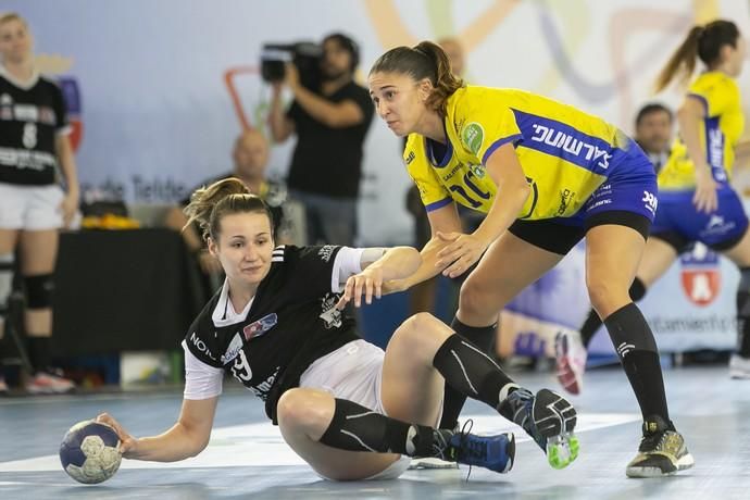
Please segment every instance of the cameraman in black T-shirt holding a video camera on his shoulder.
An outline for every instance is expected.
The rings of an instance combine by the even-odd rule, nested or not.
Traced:
[[[374,114],[367,89],[353,82],[358,63],[357,43],[332,34],[323,40],[317,88],[302,86],[293,64],[273,84],[271,132],[277,142],[297,134],[287,184],[304,204],[309,245],[354,243],[362,145]],[[286,113],[283,85],[295,96]]]

